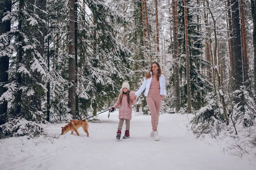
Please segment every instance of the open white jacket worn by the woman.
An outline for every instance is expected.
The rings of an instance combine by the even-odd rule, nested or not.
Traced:
[[[149,87],[150,87],[150,84],[152,81],[152,72],[150,72],[150,74],[151,74],[150,78],[146,79],[144,77],[144,81],[143,81],[142,85],[140,86],[140,89],[138,89],[138,91],[135,93],[135,95],[139,96],[143,92],[143,90],[146,89],[144,96],[146,96],[146,97],[148,96]],[[160,95],[166,96],[165,77],[163,74],[160,75],[159,82],[160,82]]]

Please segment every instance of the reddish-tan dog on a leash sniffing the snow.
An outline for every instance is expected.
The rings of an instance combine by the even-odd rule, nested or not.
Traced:
[[[82,120],[84,120],[85,118],[83,118]],[[88,133],[88,122],[87,120],[81,121],[81,120],[73,120],[70,121],[67,125],[65,125],[64,127],[61,127],[61,135],[64,135],[65,133],[68,133],[68,131],[71,131],[71,134],[74,133],[74,131],[76,132],[76,134],[79,136],[78,133],[78,129],[79,127],[82,127],[84,132],[87,133],[87,137],[89,137],[89,133]]]

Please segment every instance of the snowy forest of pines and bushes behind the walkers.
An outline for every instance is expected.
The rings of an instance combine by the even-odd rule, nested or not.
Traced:
[[[256,147],[256,0],[0,0],[0,138],[109,109],[153,61],[161,114]],[[150,114],[143,95],[134,110]]]

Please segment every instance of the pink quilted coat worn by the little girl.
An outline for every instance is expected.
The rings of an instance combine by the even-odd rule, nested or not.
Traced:
[[[113,108],[116,109],[116,107],[118,107],[120,105],[120,95],[117,98],[116,103],[112,106]],[[125,118],[125,119],[131,119],[131,104],[135,105],[137,103],[137,99],[133,100],[131,99],[132,96],[135,95],[135,92],[130,92],[130,105],[128,105],[127,102],[127,96],[125,94],[123,94],[122,96],[122,104],[119,107],[119,119],[120,118]]]

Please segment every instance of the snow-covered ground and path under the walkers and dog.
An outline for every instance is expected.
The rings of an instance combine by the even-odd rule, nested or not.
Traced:
[[[48,136],[0,141],[0,170],[255,170],[256,156],[224,152],[214,139],[201,141],[188,128],[192,115],[160,115],[160,141],[149,136],[149,115],[133,113],[131,138],[116,140],[118,112],[89,122],[89,138],[61,133],[65,124],[44,125]],[[124,134],[125,124],[122,130]]]

